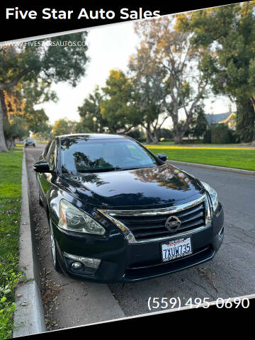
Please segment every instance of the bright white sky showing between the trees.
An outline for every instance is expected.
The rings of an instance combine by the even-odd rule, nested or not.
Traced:
[[[73,88],[71,85],[53,84],[52,90],[57,93],[57,103],[44,103],[50,123],[60,118],[79,121],[77,108],[84,99],[94,91],[95,86],[104,86],[111,69],[127,70],[130,55],[135,53],[139,38],[134,31],[132,21],[114,23],[106,26],[89,28],[87,36],[88,55],[86,74]],[[229,100],[226,97],[209,98],[205,101],[205,113],[224,113],[229,111]],[[234,107],[232,106],[234,109]],[[171,128],[171,118],[166,120],[164,128]]]

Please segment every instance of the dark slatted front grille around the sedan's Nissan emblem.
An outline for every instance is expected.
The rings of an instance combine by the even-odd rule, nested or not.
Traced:
[[[166,212],[164,215],[115,215],[115,219],[122,222],[134,235],[137,242],[169,237],[175,233],[169,232],[165,227],[166,219],[176,216],[181,220],[181,226],[176,233],[191,230],[205,225],[205,201],[179,212]]]

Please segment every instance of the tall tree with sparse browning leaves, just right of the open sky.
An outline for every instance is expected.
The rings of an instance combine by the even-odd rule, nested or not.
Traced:
[[[139,81],[140,97],[147,103],[150,98],[145,106],[147,124],[157,131],[159,117],[161,122],[171,117],[174,140],[180,143],[196,106],[205,98],[208,74],[200,63],[207,50],[195,46],[190,33],[177,31],[175,23],[176,16],[138,22],[136,32],[142,40],[130,68]]]

